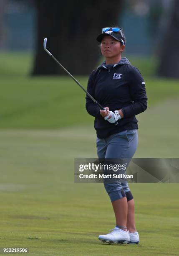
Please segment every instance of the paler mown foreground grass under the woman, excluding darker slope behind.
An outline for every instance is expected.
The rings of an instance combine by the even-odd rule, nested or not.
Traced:
[[[177,102],[141,114],[135,157],[178,157]],[[172,127],[165,123],[164,106],[176,117]],[[160,113],[153,117],[155,136],[153,111]],[[49,256],[178,255],[178,184],[130,184],[141,242],[98,241],[115,225],[108,195],[103,184],[73,182],[74,158],[96,157],[92,123],[56,131],[1,130],[0,148],[0,247],[28,247],[30,255]]]

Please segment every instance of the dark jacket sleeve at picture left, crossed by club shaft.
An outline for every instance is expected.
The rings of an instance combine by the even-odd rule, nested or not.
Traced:
[[[88,86],[87,86],[87,92],[94,97],[94,81],[93,81],[93,72],[90,74],[90,77],[88,79]],[[93,100],[90,99],[88,95],[86,95],[86,110],[88,114],[94,116],[94,117],[101,117],[100,115],[100,108],[98,105],[96,105]]]

